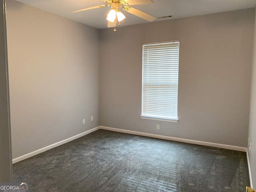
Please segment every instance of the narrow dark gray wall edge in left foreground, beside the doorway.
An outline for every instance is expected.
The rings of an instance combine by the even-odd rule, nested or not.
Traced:
[[[0,6],[0,182],[12,182],[10,104],[6,47],[6,4]]]

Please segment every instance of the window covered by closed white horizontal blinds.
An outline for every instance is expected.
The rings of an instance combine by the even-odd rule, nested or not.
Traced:
[[[143,44],[142,119],[178,122],[179,41]]]

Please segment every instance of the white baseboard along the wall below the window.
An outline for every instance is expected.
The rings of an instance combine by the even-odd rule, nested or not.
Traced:
[[[158,138],[158,139],[164,139],[164,140],[170,140],[170,141],[178,141],[178,142],[184,142],[184,143],[190,143],[190,144],[197,144],[197,145],[204,145],[204,146],[217,147],[217,148],[223,148],[223,149],[230,149],[230,150],[236,150],[236,151],[242,151],[242,152],[246,152],[246,150],[247,150],[247,148],[245,148],[245,147],[218,144],[218,143],[211,143],[211,142],[204,142],[204,141],[197,141],[197,140],[190,140],[190,139],[182,139],[182,138],[156,135],[156,134],[137,132],[137,131],[131,131],[131,130],[124,130],[124,129],[117,129],[117,128],[111,128],[111,127],[105,127],[105,126],[100,126],[100,129],[110,130],[110,131],[115,131],[115,132],[121,132],[121,133],[128,133],[128,134],[133,134],[133,135],[152,137],[152,138]]]

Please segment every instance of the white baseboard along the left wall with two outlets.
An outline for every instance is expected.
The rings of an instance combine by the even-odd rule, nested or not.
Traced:
[[[70,138],[64,139],[64,140],[62,140],[62,141],[60,141],[60,142],[51,144],[51,145],[46,146],[46,147],[44,147],[44,148],[35,150],[35,151],[30,152],[30,153],[28,153],[28,154],[22,155],[22,156],[20,156],[20,157],[17,157],[17,158],[15,158],[15,159],[12,160],[12,164],[17,163],[17,162],[19,162],[19,161],[22,161],[22,160],[24,160],[24,159],[30,158],[30,157],[32,157],[32,156],[35,156],[35,155],[37,155],[37,154],[40,154],[40,153],[45,152],[45,151],[47,151],[47,150],[50,150],[50,149],[52,149],[52,148],[58,147],[58,146],[60,146],[60,145],[62,145],[62,144],[65,144],[65,143],[67,143],[67,142],[70,142],[70,141],[72,141],[72,140],[75,140],[75,139],[77,139],[77,138],[80,138],[80,137],[82,137],[82,136],[85,136],[85,135],[87,135],[87,134],[89,134],[89,133],[92,133],[92,132],[94,132],[94,131],[96,131],[96,130],[99,130],[99,129],[100,129],[100,126],[98,126],[98,127],[96,127],[96,128],[92,128],[92,129],[90,129],[90,130],[88,130],[88,131],[85,131],[85,132],[82,132],[82,133],[77,134],[77,135],[75,135],[75,136],[72,136],[72,137],[70,137]]]

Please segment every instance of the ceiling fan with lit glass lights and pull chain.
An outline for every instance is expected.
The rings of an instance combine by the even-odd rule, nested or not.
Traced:
[[[147,14],[138,9],[130,7],[130,5],[153,4],[154,2],[152,0],[102,0],[102,1],[104,1],[106,4],[74,10],[74,11],[71,11],[70,13],[76,13],[76,12],[86,11],[90,9],[111,6],[111,10],[109,11],[107,16],[108,27],[116,27],[117,20],[118,22],[120,22],[125,18],[124,14],[122,14],[122,12],[120,12],[119,10],[120,7],[123,8],[124,11],[134,14],[135,16],[138,16],[149,22],[154,21],[156,19],[154,16],[150,14]],[[116,28],[114,28],[114,31],[116,31]]]

